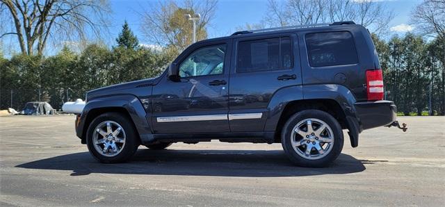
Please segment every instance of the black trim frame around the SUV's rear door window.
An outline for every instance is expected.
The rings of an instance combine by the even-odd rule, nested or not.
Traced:
[[[280,53],[280,59],[282,58],[282,56],[281,56],[281,53],[282,53],[282,51],[281,51],[281,39],[282,38],[289,38],[289,40],[291,41],[291,67],[289,67],[289,68],[284,68],[284,67],[282,67],[282,68],[280,68],[280,69],[274,69],[274,70],[261,70],[261,71],[253,71],[253,72],[238,72],[238,48],[239,48],[239,43],[240,42],[249,42],[249,41],[256,41],[256,40],[267,40],[267,39],[275,39],[275,38],[278,38],[279,39],[279,45],[280,45],[280,47],[279,47],[279,53]],[[249,73],[259,73],[259,72],[277,72],[277,71],[286,71],[286,70],[292,70],[293,69],[293,67],[295,67],[295,58],[294,58],[294,49],[293,49],[293,45],[294,44],[294,40],[293,40],[293,37],[292,37],[292,35],[291,34],[286,34],[286,35],[282,35],[282,34],[280,34],[280,35],[269,35],[269,36],[263,36],[263,37],[254,37],[254,38],[248,38],[248,39],[245,39],[245,40],[243,40],[243,39],[238,39],[237,41],[236,41],[236,47],[235,47],[235,73],[236,74],[249,74]]]

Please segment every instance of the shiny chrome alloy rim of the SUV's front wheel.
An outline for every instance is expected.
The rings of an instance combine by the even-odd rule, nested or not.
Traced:
[[[97,124],[92,134],[92,142],[99,154],[113,157],[120,154],[125,145],[125,131],[120,124],[105,121]]]

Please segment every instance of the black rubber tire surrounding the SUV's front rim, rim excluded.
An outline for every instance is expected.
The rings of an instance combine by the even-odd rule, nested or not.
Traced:
[[[118,123],[124,131],[126,138],[125,144],[115,156],[104,156],[100,154],[93,145],[92,137],[96,127],[106,121],[112,121]],[[90,154],[101,163],[124,163],[131,159],[133,154],[138,150],[139,140],[131,119],[121,113],[104,113],[96,117],[88,126],[86,137],[86,144]]]

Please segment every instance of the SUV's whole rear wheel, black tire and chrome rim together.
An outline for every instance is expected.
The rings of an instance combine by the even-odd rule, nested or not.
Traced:
[[[309,124],[312,131],[307,130]],[[329,113],[302,110],[292,115],[284,124],[281,142],[286,155],[295,165],[326,167],[343,149],[343,131],[337,119]]]

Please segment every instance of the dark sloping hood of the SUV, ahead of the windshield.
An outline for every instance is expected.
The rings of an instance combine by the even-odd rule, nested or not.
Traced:
[[[117,93],[131,93],[129,90],[138,87],[146,87],[150,85],[155,85],[156,78],[147,78],[139,81],[131,81],[127,83],[119,83],[115,85],[109,85],[103,88],[97,88],[95,90],[90,90],[86,93],[86,101],[90,101],[95,99],[96,97],[107,96],[109,94],[117,94]]]

